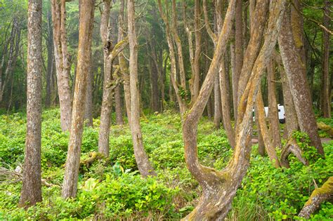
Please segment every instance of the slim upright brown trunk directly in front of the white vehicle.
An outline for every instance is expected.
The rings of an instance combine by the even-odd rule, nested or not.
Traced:
[[[270,60],[267,67],[267,81],[268,81],[268,119],[269,119],[269,133],[272,138],[272,145],[274,148],[281,148],[281,135],[280,135],[280,121],[278,114],[278,102],[275,96],[275,67],[273,61]]]

